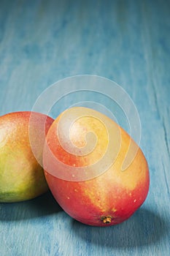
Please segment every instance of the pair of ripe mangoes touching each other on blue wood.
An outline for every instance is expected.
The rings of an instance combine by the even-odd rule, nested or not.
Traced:
[[[144,203],[147,161],[114,121],[88,108],[70,108],[55,121],[36,113],[31,124],[30,115],[0,118],[0,201],[30,199],[45,192],[48,184],[71,217],[97,226],[123,222]],[[123,170],[128,150],[131,161]],[[39,165],[42,158],[47,184]]]

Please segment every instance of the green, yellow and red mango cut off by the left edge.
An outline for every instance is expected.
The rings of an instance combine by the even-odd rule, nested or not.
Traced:
[[[47,192],[44,171],[31,151],[29,140],[30,111],[8,113],[0,117],[0,202],[29,200]],[[47,117],[46,133],[53,118],[34,113],[31,123],[35,141]],[[39,155],[42,148],[39,147]]]

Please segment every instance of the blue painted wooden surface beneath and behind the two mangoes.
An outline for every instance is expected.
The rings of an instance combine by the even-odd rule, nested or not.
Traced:
[[[0,1],[1,115],[31,110],[61,78],[110,78],[139,111],[150,167],[144,205],[113,227],[74,221],[50,193],[1,203],[0,255],[170,255],[169,13],[165,0]]]

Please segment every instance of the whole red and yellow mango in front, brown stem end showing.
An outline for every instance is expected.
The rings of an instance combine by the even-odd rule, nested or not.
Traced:
[[[47,132],[43,165],[55,200],[86,225],[125,221],[149,191],[142,150],[115,121],[90,108],[69,108],[55,119]]]

